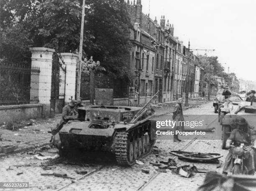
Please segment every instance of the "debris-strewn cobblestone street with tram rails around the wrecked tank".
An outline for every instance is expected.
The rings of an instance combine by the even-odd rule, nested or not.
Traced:
[[[214,140],[213,136],[219,135],[221,131],[218,123],[218,115],[214,114],[212,103],[204,103],[199,107],[190,108],[184,111],[184,118],[192,114],[197,115],[214,115],[211,122],[207,124],[207,128],[215,127],[215,133],[206,133],[205,137],[191,136],[177,143],[167,138],[159,137],[153,151],[141,159],[143,164],[135,164],[130,168],[117,166],[115,164],[89,164],[81,166],[79,164],[60,163],[52,166],[50,170],[43,170],[40,163],[41,160],[31,158],[32,155],[27,153],[16,153],[13,155],[4,156],[0,159],[0,180],[2,182],[29,182],[30,190],[195,190],[202,184],[205,173],[197,173],[191,178],[185,178],[172,171],[167,170],[166,173],[156,170],[157,167],[152,166],[150,162],[168,161],[166,156],[172,150],[196,151],[201,153],[220,153],[223,157],[220,158],[221,167],[217,168],[218,164],[205,163],[189,163],[180,161],[177,158],[178,166],[194,164],[197,168],[205,168],[209,171],[222,171],[225,156],[228,151],[220,148],[220,140]],[[154,118],[157,121],[165,121],[172,117],[172,114],[165,114]],[[182,136],[180,136],[182,139]],[[219,138],[220,139],[220,138]],[[48,155],[55,155],[56,150],[50,149]],[[51,153],[50,153],[51,152]],[[157,153],[157,155],[156,155]],[[44,153],[47,154],[47,153]],[[20,167],[15,167],[20,165]],[[25,166],[22,166],[25,165]],[[27,165],[27,166],[26,166]],[[11,167],[13,170],[6,170]],[[148,169],[149,173],[143,173],[141,169]],[[85,175],[77,174],[75,171],[87,171]],[[17,173],[22,174],[17,175]],[[41,173],[66,173],[67,176],[74,179],[41,176]],[[10,189],[9,189],[10,190]]]

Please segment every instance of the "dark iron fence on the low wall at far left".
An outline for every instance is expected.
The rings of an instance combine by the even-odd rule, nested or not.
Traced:
[[[0,63],[0,105],[38,103],[39,68]]]

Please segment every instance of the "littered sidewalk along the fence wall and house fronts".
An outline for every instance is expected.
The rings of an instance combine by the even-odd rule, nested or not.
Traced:
[[[202,103],[207,102],[206,98],[189,98],[189,107],[184,107],[184,110],[199,107]],[[152,107],[156,111],[154,118],[172,113],[176,103],[176,101],[172,101],[152,104]],[[4,146],[15,146],[14,151],[10,153],[19,153],[48,145],[51,139],[51,133],[48,133],[48,131],[51,131],[51,128],[55,128],[60,119],[61,114],[58,114],[55,118],[21,121],[22,124],[18,126],[17,124],[14,124],[14,126],[10,126],[10,124],[0,126],[0,156],[6,155],[1,151],[1,147]],[[15,130],[9,130],[13,128]]]

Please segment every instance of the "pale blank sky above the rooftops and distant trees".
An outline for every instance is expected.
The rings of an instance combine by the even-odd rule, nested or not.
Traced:
[[[150,2],[150,3],[149,3]],[[142,11],[174,25],[174,36],[195,54],[218,56],[225,72],[256,80],[256,0],[141,0]],[[150,5],[150,6],[149,6]],[[150,10],[150,11],[149,11]],[[225,64],[226,63],[226,64]]]

